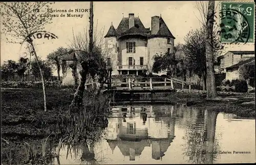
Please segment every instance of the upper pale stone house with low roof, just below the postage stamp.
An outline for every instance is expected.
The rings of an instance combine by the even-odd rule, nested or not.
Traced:
[[[218,73],[225,73],[226,68],[238,64],[240,61],[255,57],[254,51],[228,51],[218,57]]]

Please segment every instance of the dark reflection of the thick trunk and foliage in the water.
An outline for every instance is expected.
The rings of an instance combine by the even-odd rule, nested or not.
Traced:
[[[187,108],[189,111],[191,107]],[[183,137],[186,143],[183,154],[189,158],[189,163],[213,163],[220,156],[220,146],[215,139],[218,112],[207,110],[199,112],[196,119],[193,117],[186,119],[187,129]]]

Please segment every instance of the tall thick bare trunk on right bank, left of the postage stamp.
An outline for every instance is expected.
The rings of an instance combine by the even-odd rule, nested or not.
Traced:
[[[215,87],[215,75],[214,75],[214,50],[213,50],[213,26],[214,26],[214,5],[215,1],[209,1],[208,3],[208,14],[207,14],[207,24],[206,24],[206,89],[207,98],[212,99],[217,97],[217,91]]]

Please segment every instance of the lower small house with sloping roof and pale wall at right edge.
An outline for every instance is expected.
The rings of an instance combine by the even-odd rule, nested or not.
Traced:
[[[241,79],[241,75],[239,73],[239,69],[241,68],[241,66],[248,66],[248,65],[252,65],[252,66],[255,66],[255,57],[252,57],[250,59],[247,59],[247,60],[244,60],[244,61],[241,61],[237,64],[234,64],[230,67],[227,67],[226,68],[226,79],[228,80],[232,80],[232,79]],[[251,78],[250,79],[254,79],[255,76],[254,76],[255,72],[251,72]]]

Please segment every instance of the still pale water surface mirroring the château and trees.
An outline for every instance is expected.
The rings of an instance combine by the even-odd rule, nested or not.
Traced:
[[[59,163],[256,161],[255,120],[178,104],[114,106],[112,111],[100,142],[91,146],[80,144],[69,151],[68,146],[64,146],[60,150]],[[88,153],[93,158],[84,158]]]

